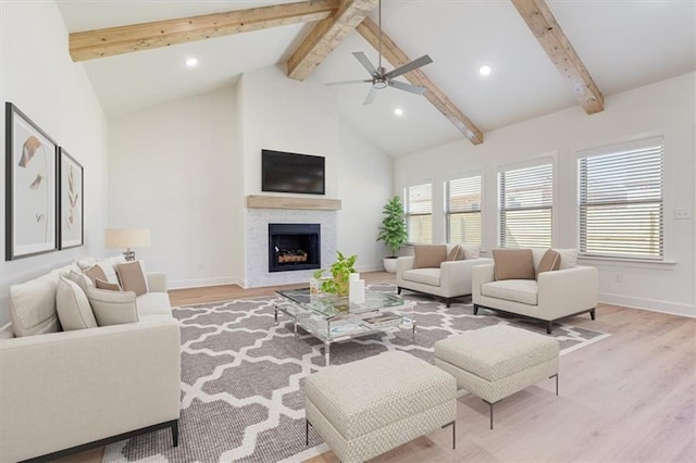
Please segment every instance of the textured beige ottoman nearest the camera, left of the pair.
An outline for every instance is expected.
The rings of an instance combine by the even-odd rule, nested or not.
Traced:
[[[309,425],[341,462],[361,462],[452,425],[457,383],[405,352],[332,365],[304,381]],[[309,437],[307,437],[309,445]]]

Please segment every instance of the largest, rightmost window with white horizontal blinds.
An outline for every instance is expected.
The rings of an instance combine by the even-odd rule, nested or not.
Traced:
[[[662,145],[579,159],[581,254],[662,260]]]

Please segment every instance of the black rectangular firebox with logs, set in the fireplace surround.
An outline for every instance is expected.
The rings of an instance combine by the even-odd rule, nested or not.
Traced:
[[[320,224],[269,224],[269,272],[321,267]]]

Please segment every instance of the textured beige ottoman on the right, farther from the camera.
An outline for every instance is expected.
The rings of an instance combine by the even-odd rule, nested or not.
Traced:
[[[506,397],[552,377],[558,396],[559,351],[556,339],[495,325],[435,342],[435,365],[488,403],[493,429],[493,405]]]

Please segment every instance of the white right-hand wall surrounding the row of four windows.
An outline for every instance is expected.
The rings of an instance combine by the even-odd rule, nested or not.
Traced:
[[[425,150],[395,161],[396,191],[423,178],[434,180],[434,223],[444,221],[442,183],[457,172],[484,172],[484,247],[497,242],[497,179],[499,165],[552,155],[555,159],[554,246],[577,246],[577,151],[662,135],[664,137],[666,260],[644,264],[581,260],[596,265],[600,300],[626,306],[696,315],[694,286],[694,78],[687,74],[606,100],[601,113],[587,115],[580,107],[486,134],[483,145],[465,140]],[[686,208],[689,220],[674,220]],[[444,240],[436,227],[435,242]],[[623,281],[616,281],[616,274]]]

